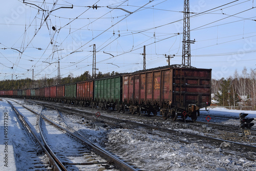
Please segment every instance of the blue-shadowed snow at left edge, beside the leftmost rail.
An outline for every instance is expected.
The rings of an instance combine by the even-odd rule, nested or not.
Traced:
[[[4,134],[4,116],[8,114],[8,133]],[[6,127],[5,127],[6,128]],[[0,170],[32,170],[33,160],[45,160],[44,155],[30,154],[38,148],[32,144],[17,121],[7,101],[0,98]],[[7,137],[5,137],[7,136]],[[8,142],[8,146],[5,145]],[[5,156],[8,158],[5,159]],[[31,160],[31,157],[34,159]],[[35,165],[34,165],[35,166]]]

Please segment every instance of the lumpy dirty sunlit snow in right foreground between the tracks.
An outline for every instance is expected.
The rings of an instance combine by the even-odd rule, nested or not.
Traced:
[[[255,170],[256,162],[226,156],[220,148],[183,144],[136,130],[112,130],[106,146],[144,170]]]

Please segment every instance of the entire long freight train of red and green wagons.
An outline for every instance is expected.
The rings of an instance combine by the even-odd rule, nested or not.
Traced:
[[[211,69],[166,66],[113,77],[82,81],[39,89],[0,91],[2,96],[36,97],[100,109],[129,110],[164,119],[200,115],[199,109],[210,105]],[[10,95],[9,95],[10,94]]]

